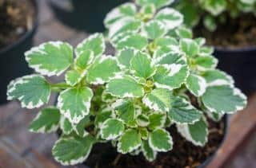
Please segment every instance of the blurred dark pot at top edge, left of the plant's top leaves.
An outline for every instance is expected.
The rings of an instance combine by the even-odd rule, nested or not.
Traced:
[[[87,33],[103,32],[103,20],[115,6],[127,0],[50,0],[56,18]]]

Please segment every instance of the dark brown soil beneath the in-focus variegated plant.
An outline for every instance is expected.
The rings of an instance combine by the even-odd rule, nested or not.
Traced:
[[[94,146],[85,164],[90,168],[194,168],[218,150],[224,137],[224,120],[220,123],[209,120],[208,123],[209,137],[205,147],[196,147],[186,141],[178,134],[176,127],[172,126],[168,131],[174,141],[173,150],[167,153],[158,153],[158,158],[154,162],[147,162],[142,154],[138,156],[125,154],[121,155],[118,163],[114,166],[113,162],[118,156],[116,149],[110,143],[99,143]]]

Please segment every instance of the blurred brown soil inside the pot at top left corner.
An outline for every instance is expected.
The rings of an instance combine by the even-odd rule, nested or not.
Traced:
[[[34,15],[30,0],[0,0],[0,49],[14,44],[32,29]]]

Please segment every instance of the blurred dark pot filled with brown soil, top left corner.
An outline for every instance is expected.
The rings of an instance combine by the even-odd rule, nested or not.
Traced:
[[[10,80],[31,72],[23,53],[31,48],[38,25],[37,2],[0,0],[0,20],[0,104],[3,104]]]

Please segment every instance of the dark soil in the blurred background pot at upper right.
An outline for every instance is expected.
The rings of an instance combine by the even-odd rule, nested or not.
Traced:
[[[220,48],[256,47],[256,17],[253,14],[243,14],[239,18],[227,18],[226,24],[218,25],[214,32],[199,24],[194,33],[196,37],[206,37],[209,45]]]

